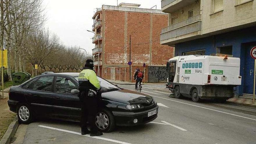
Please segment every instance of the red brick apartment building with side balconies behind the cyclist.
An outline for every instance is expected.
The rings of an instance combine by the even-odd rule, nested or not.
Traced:
[[[173,57],[174,48],[160,45],[160,32],[162,27],[168,26],[168,15],[161,10],[139,6],[127,3],[103,5],[94,14],[93,57],[99,76],[130,81],[130,71],[132,76],[137,68],[144,71],[145,63],[145,82],[166,81],[167,74],[161,70]],[[130,50],[131,69],[127,64]]]

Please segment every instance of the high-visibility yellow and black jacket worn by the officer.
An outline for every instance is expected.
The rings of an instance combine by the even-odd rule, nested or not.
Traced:
[[[95,71],[90,69],[82,70],[78,77],[79,90],[99,90],[100,84]]]

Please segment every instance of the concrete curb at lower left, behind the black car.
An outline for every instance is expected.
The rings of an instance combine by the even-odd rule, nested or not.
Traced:
[[[0,144],[10,144],[11,138],[13,138],[17,128],[19,126],[18,117],[16,116],[13,122],[9,125],[6,130],[3,138],[0,141]]]

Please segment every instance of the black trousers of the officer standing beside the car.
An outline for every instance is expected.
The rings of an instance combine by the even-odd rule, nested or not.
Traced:
[[[97,98],[83,97],[81,106],[81,131],[87,131],[88,127],[90,127],[90,133],[96,133],[98,131],[95,125],[97,112]]]

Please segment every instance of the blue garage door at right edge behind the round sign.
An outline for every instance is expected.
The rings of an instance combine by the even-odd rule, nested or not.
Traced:
[[[255,45],[249,45],[246,47],[245,52],[245,64],[244,64],[244,84],[243,93],[253,94],[253,75],[254,75],[254,59],[250,56],[250,50],[255,47]]]

